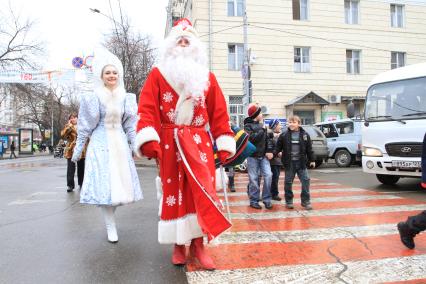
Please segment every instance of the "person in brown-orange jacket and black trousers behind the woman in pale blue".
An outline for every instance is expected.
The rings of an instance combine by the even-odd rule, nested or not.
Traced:
[[[75,143],[77,141],[77,121],[78,116],[76,113],[71,113],[68,116],[68,123],[65,125],[64,129],[61,131],[62,139],[67,141],[67,144],[64,149],[64,157],[67,159],[67,192],[72,192],[75,187],[74,176],[76,170],[76,163],[71,161]],[[59,140],[58,146],[61,146],[63,140]],[[59,147],[58,147],[59,148]],[[85,163],[85,153],[86,147],[84,147],[81,154],[80,160],[77,162],[77,181],[78,189],[81,190],[84,179],[84,163]]]

